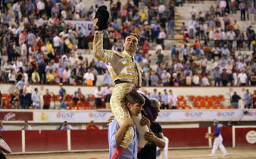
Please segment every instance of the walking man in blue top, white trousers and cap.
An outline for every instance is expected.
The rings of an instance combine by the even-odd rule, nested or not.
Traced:
[[[226,149],[225,149],[224,145],[222,144],[223,139],[221,136],[221,131],[218,126],[218,121],[215,119],[213,120],[213,126],[215,126],[215,128],[214,128],[214,134],[212,135],[212,137],[215,137],[215,139],[214,139],[211,155],[209,155],[209,156],[213,157],[215,155],[215,152],[217,151],[217,149],[220,148],[220,150],[223,153],[222,157],[224,157],[224,156],[228,155],[228,153],[226,152]]]

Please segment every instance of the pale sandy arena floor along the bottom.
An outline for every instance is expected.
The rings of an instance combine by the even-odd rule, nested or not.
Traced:
[[[211,149],[169,150],[168,159],[256,159],[256,147],[226,148],[228,156],[222,157],[218,149],[215,157],[209,157]],[[108,152],[51,153],[36,155],[7,155],[7,159],[108,159]],[[162,152],[163,159],[163,152]]]

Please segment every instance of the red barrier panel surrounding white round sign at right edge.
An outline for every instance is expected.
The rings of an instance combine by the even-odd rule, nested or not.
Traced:
[[[256,143],[250,144],[250,143],[248,143],[248,141],[246,141],[246,134],[251,130],[256,131],[256,128],[236,128],[235,129],[236,147],[238,147],[238,146],[256,146]]]

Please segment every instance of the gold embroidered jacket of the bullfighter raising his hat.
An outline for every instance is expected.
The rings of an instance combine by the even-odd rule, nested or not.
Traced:
[[[103,33],[94,34],[93,55],[96,59],[105,62],[113,81],[129,81],[141,87],[141,66],[125,52],[103,49]]]

